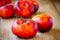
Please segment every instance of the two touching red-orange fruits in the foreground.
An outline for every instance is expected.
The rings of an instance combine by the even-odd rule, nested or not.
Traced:
[[[34,37],[38,30],[47,32],[52,28],[52,18],[47,14],[35,15],[31,20],[17,19],[12,24],[12,32],[20,38]]]

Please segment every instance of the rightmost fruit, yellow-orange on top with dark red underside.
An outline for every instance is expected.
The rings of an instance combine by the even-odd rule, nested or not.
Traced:
[[[36,15],[32,18],[38,25],[40,32],[49,31],[52,28],[52,18],[46,14]]]

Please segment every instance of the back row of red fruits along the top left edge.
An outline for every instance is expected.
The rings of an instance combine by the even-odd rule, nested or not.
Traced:
[[[39,5],[35,0],[17,0],[14,5],[10,0],[0,0],[0,17],[9,18],[16,14],[16,16],[28,18],[38,8]]]

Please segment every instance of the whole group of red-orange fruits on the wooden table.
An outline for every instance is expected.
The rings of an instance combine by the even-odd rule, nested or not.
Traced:
[[[52,17],[47,14],[35,15],[39,4],[36,0],[17,0],[13,5],[10,0],[0,0],[0,17],[9,18],[13,15],[22,17],[12,24],[12,33],[20,38],[32,38],[37,32],[47,32],[52,28]]]

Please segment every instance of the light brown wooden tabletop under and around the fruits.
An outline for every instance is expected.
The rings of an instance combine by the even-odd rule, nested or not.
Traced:
[[[52,2],[49,0],[38,0],[38,13],[46,13],[53,18],[53,28],[46,33],[37,33],[34,38],[21,39],[11,32],[11,25],[16,18],[0,18],[0,40],[60,40],[60,14],[57,12]]]

